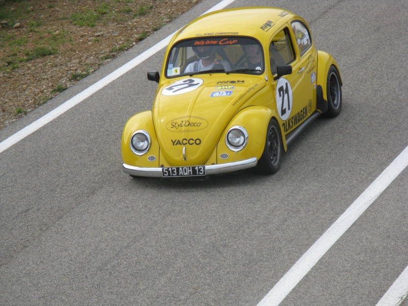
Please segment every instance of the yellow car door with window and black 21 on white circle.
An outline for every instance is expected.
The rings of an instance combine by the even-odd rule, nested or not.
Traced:
[[[277,76],[277,66],[292,66],[292,73],[274,80],[276,83],[273,86],[276,109],[282,120],[284,134],[299,126],[312,110],[312,90],[304,73],[308,63],[295,51],[293,35],[286,25],[275,33],[269,44],[270,68],[274,79]]]

